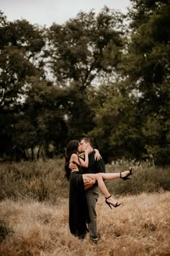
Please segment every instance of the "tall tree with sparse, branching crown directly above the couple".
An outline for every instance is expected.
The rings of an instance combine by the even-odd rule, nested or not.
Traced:
[[[107,7],[99,14],[80,12],[65,24],[50,27],[49,64],[56,85],[68,89],[69,137],[79,138],[94,127],[87,91],[107,74],[115,77],[123,37],[122,14]]]

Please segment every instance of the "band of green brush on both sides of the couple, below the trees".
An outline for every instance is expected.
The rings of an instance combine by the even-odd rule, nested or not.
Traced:
[[[133,166],[131,180],[106,181],[113,195],[139,194],[140,192],[159,192],[170,190],[169,166],[156,167],[150,162],[120,160],[106,165],[107,172],[120,172]],[[68,181],[65,178],[64,160],[46,162],[1,163],[0,200],[37,200],[57,204],[68,197]]]

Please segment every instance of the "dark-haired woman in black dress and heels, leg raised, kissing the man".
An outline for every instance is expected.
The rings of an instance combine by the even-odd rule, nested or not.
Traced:
[[[91,148],[84,150],[84,159],[79,156],[79,141],[71,140],[66,148],[66,177],[69,180],[69,227],[71,234],[84,238],[86,232],[86,223],[89,223],[89,212],[86,204],[85,190],[89,189],[98,183],[98,187],[105,197],[105,202],[110,208],[117,207],[120,203],[116,202],[107,190],[104,180],[110,179],[129,179],[132,174],[131,168],[129,171],[123,171],[116,174],[81,174],[81,166],[88,167],[89,153]],[[69,163],[75,163],[77,168],[71,170]]]

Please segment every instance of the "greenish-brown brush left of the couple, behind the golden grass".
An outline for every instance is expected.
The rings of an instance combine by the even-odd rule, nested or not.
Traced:
[[[30,198],[56,203],[58,197],[68,197],[63,166],[63,159],[1,164],[0,200]]]

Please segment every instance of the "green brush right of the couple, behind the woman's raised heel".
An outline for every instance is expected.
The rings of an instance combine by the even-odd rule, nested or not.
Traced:
[[[114,195],[136,195],[141,192],[159,192],[160,190],[170,190],[170,167],[156,167],[151,162],[116,161],[107,165],[107,171],[120,172],[128,170],[133,166],[133,176],[131,179],[123,181],[107,181],[109,192]],[[113,183],[114,182],[114,183]]]

